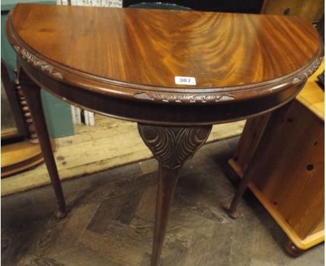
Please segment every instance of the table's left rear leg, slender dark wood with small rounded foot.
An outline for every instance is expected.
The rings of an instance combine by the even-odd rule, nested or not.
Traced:
[[[59,210],[56,212],[56,218],[61,219],[66,215],[65,198],[63,196],[58,170],[56,169],[56,161],[54,160],[49,133],[47,132],[47,125],[42,109],[40,87],[31,81],[22,70],[20,71],[19,81],[36,128],[42,155],[58,201]]]

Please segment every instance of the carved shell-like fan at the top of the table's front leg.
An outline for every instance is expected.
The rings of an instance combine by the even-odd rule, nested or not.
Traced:
[[[205,143],[211,129],[211,125],[201,127],[138,125],[139,134],[154,157],[170,169],[183,166],[185,161]]]

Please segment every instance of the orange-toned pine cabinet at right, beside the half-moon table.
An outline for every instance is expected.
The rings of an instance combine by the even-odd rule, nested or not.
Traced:
[[[249,188],[294,246],[309,249],[324,240],[324,92],[316,75],[288,109],[265,147]],[[267,116],[247,120],[229,164],[243,175],[250,165]]]

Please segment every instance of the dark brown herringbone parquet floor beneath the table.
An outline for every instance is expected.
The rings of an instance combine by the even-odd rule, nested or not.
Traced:
[[[282,250],[285,235],[247,194],[242,217],[224,208],[234,187],[224,174],[238,138],[205,145],[181,172],[162,254],[164,266],[324,265],[324,245],[300,258]],[[49,186],[1,200],[1,263],[19,266],[150,265],[154,159],[66,180],[69,214],[57,221]]]

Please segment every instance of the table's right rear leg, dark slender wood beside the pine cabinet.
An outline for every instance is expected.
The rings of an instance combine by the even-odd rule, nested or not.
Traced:
[[[238,188],[235,191],[235,196],[233,197],[230,209],[228,210],[229,217],[233,219],[238,218],[239,214],[237,208],[240,199],[242,198],[244,191],[246,191],[252,178],[254,178],[254,175],[256,173],[256,166],[258,166],[258,162],[263,156],[265,152],[265,148],[269,143],[272,135],[274,134],[277,126],[283,123],[284,116],[288,111],[288,108],[290,107],[291,103],[292,101],[288,102],[283,107],[280,107],[275,111],[272,111],[272,113],[270,114],[270,117],[268,118],[267,121],[267,125],[265,126],[265,130],[263,131],[263,134],[261,136],[261,140],[258,142],[256,151],[254,152],[254,155],[251,158],[251,162],[247,167],[246,171],[244,172],[242,180],[240,181],[240,184],[238,185]]]

